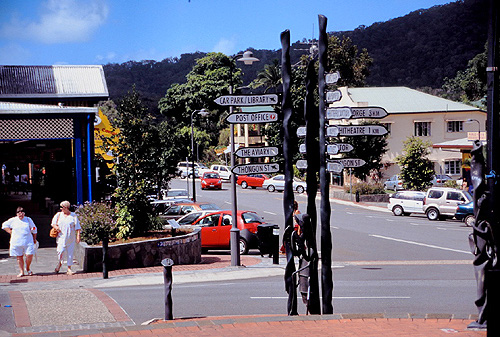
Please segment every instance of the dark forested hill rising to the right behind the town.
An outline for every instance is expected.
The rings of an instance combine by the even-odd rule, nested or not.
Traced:
[[[439,88],[445,77],[454,77],[458,70],[466,68],[471,58],[484,51],[487,17],[487,0],[460,0],[369,27],[360,26],[354,31],[331,34],[349,36],[373,57],[367,85]],[[276,40],[279,41],[279,32]],[[294,43],[292,62],[307,53],[304,49],[308,48],[307,44]],[[185,82],[195,60],[204,55],[193,52],[163,61],[107,64],[104,71],[111,98],[122,97],[135,84],[145,103],[155,107],[173,83]],[[280,50],[254,50],[254,55],[261,62],[243,68],[245,84],[265,64],[280,59]]]

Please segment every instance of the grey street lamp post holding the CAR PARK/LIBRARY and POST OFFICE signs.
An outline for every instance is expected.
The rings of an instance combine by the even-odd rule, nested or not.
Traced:
[[[239,57],[239,58],[238,58]],[[244,52],[243,54],[237,54],[233,56],[231,62],[229,63],[229,94],[233,94],[233,62],[241,61],[246,65],[251,65],[254,62],[259,61],[258,58],[253,57],[253,53],[249,50]],[[229,114],[233,113],[233,106],[229,106]],[[236,151],[234,146],[234,124],[231,123],[230,126],[231,132],[231,169],[235,166],[235,154]],[[235,174],[231,174],[231,203],[232,203],[232,218],[233,223],[231,226],[231,266],[239,266],[240,265],[240,230],[238,229],[238,205],[236,199],[236,177]]]

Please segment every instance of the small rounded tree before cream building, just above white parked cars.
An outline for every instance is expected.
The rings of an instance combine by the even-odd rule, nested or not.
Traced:
[[[412,136],[403,142],[403,154],[396,158],[405,189],[421,191],[430,185],[434,169],[427,157],[432,143]]]

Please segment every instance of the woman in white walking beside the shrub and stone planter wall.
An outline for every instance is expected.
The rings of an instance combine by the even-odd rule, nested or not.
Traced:
[[[69,201],[63,201],[60,204],[61,211],[56,213],[52,218],[52,227],[57,229],[57,266],[54,271],[59,273],[63,262],[63,254],[67,254],[68,271],[66,274],[73,275],[75,272],[71,270],[73,265],[73,252],[75,251],[75,244],[80,242],[80,222],[78,216],[71,212],[71,204]]]

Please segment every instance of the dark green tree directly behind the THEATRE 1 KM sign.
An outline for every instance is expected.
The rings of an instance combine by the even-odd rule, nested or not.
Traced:
[[[376,121],[362,121],[360,125],[380,125]],[[352,125],[352,123],[349,123]],[[380,168],[382,168],[382,156],[387,152],[387,135],[384,136],[352,136],[342,137],[342,143],[351,144],[353,150],[343,153],[343,158],[360,158],[366,164],[353,168],[353,174],[365,180],[367,176],[375,175],[378,178]]]

